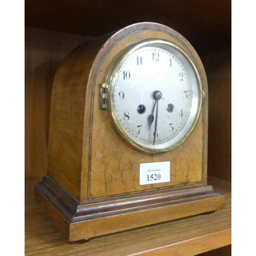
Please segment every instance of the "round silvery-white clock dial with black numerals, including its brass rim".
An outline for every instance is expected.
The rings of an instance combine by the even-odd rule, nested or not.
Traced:
[[[201,83],[193,61],[176,45],[147,40],[124,51],[109,84],[111,119],[133,147],[169,151],[193,131],[201,109]]]

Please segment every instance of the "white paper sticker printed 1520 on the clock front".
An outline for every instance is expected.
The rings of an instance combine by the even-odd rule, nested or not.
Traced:
[[[140,185],[170,181],[170,162],[141,163]]]

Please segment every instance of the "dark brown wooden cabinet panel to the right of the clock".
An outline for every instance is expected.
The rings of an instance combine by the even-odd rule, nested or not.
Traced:
[[[209,84],[208,174],[231,181],[231,48],[202,61]]]

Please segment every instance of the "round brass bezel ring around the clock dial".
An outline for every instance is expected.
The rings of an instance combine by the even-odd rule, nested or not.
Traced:
[[[196,74],[196,79],[199,85],[199,99],[198,99],[198,107],[197,107],[197,114],[195,116],[194,122],[191,125],[189,131],[185,134],[185,136],[182,137],[182,139],[180,139],[178,142],[176,142],[175,144],[169,146],[169,147],[165,147],[165,148],[161,148],[161,149],[152,149],[152,148],[148,148],[148,147],[144,147],[138,143],[136,143],[133,139],[131,139],[129,136],[127,136],[122,129],[122,126],[119,125],[119,120],[117,118],[117,116],[115,115],[114,112],[114,102],[113,102],[113,94],[114,94],[114,90],[112,90],[112,88],[114,88],[115,85],[115,81],[117,78],[117,73],[123,63],[122,60],[126,59],[132,52],[136,51],[137,49],[146,46],[148,44],[166,44],[169,46],[172,46],[174,48],[176,48],[177,50],[179,50],[189,61],[189,63],[191,64],[191,66],[194,69],[194,72]],[[106,104],[106,112],[107,112],[107,116],[108,119],[110,121],[111,126],[113,127],[115,133],[129,146],[131,146],[134,150],[140,151],[140,152],[144,152],[144,153],[150,153],[150,154],[160,154],[160,153],[165,153],[171,150],[174,150],[176,147],[180,146],[188,137],[189,135],[194,131],[195,126],[198,122],[200,113],[201,113],[201,109],[202,109],[202,98],[203,98],[203,90],[202,90],[202,81],[199,75],[200,71],[198,71],[197,66],[195,64],[195,62],[193,61],[193,59],[187,54],[187,52],[185,51],[185,49],[182,49],[181,47],[179,47],[178,45],[176,45],[174,42],[171,42],[169,40],[165,40],[165,39],[160,39],[160,38],[150,38],[150,39],[144,39],[138,42],[135,42],[132,46],[127,47],[126,49],[124,49],[123,51],[121,51],[115,58],[115,60],[113,61],[111,68],[109,69],[109,72],[106,76],[106,83],[109,84],[108,86],[108,98],[107,98],[107,104]]]

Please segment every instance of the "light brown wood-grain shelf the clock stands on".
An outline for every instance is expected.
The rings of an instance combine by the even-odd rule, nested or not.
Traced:
[[[231,244],[231,182],[209,177],[225,195],[225,207],[211,214],[69,242],[33,198],[41,178],[25,179],[26,255],[196,255]],[[113,223],[114,225],[114,223]]]

